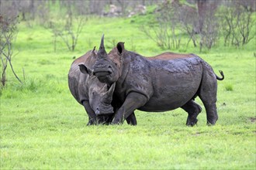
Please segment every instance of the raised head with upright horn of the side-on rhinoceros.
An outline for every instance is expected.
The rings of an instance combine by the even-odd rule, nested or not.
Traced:
[[[98,77],[99,81],[111,85],[116,82],[121,75],[121,60],[120,55],[109,57],[106,53],[103,35],[99,52],[97,53],[97,60],[93,66],[93,73]]]

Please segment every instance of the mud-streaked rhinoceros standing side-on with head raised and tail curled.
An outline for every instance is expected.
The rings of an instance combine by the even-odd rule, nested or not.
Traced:
[[[114,96],[122,106],[112,124],[122,124],[134,110],[162,112],[182,107],[189,115],[186,124],[193,126],[201,112],[195,97],[206,108],[207,124],[216,124],[217,80],[211,66],[195,54],[163,53],[153,58],[141,56],[118,42],[108,54],[102,36],[93,73],[102,83],[116,83]]]

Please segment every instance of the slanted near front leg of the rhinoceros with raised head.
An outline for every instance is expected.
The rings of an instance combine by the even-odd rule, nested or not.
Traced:
[[[123,121],[133,114],[134,110],[144,106],[147,102],[147,97],[141,93],[131,92],[127,95],[122,107],[117,110],[112,124],[123,124]]]

